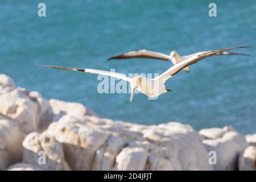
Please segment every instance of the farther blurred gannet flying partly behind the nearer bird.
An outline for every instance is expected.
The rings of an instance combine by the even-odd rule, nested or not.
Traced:
[[[171,61],[172,64],[178,64],[181,61],[184,61],[185,59],[188,59],[189,57],[199,55],[200,53],[205,53],[209,51],[204,51],[204,52],[196,52],[191,55],[187,56],[180,56],[179,53],[176,51],[171,51],[170,55],[166,55],[164,53],[160,52],[154,52],[154,51],[148,51],[146,49],[139,50],[139,51],[131,51],[131,52],[126,52],[122,53],[121,55],[113,56],[108,59],[110,60],[115,60],[115,59],[132,59],[132,58],[145,58],[145,59],[158,59],[158,60],[164,60],[164,61]],[[244,53],[232,53],[232,52],[219,52],[217,55],[244,55],[244,56],[249,56]],[[189,67],[183,68],[185,72],[189,72]]]

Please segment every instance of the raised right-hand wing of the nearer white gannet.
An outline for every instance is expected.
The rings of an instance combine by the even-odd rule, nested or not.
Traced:
[[[214,51],[197,52],[195,53],[195,55],[188,57],[187,59],[181,61],[180,63],[172,66],[170,69],[167,69],[166,72],[164,72],[162,75],[159,75],[158,77],[155,77],[154,80],[160,79],[163,82],[166,82],[168,78],[176,75],[185,67],[188,67],[191,64],[195,64],[198,61],[204,59],[205,57],[218,55],[221,52],[229,51],[231,49],[246,48],[246,47],[249,47],[249,46],[231,47],[231,48],[225,48],[225,49],[218,49]]]

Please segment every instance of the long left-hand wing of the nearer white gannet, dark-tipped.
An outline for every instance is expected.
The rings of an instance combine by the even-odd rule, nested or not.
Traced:
[[[119,79],[131,82],[131,78],[125,76],[125,74],[122,74],[122,73],[102,71],[98,69],[68,68],[68,67],[57,67],[57,66],[42,65],[42,64],[39,64],[39,65],[43,67],[50,67],[50,68],[56,68],[56,69],[65,69],[65,70],[80,71],[80,72],[86,72],[86,73],[92,73],[92,74],[98,74],[98,75],[106,75],[106,76],[111,76],[111,77],[115,77],[115,78],[119,78]]]

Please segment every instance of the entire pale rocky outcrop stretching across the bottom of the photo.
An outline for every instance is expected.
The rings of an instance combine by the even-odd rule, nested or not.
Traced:
[[[254,169],[251,138],[232,127],[197,133],[177,122],[146,126],[100,118],[82,104],[48,101],[0,75],[0,169]],[[209,164],[211,151],[217,164]]]

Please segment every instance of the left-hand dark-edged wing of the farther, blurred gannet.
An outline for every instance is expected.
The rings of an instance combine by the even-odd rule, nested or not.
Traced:
[[[165,55],[164,53],[160,52],[153,52],[153,51],[147,51],[147,50],[139,50],[139,51],[131,51],[126,52],[118,56],[113,56],[108,59],[131,59],[131,58],[146,58],[146,59],[160,59],[160,60],[169,60],[170,56]]]

